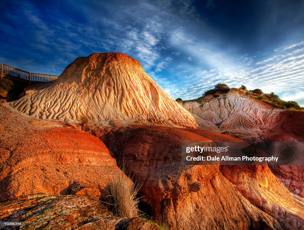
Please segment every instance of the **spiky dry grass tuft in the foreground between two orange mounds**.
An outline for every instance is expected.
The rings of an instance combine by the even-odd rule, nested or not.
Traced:
[[[124,172],[125,168],[117,175],[112,174],[112,180],[108,181],[103,195],[105,203],[114,215],[133,218],[139,213],[139,198],[136,198],[139,187],[133,184]]]

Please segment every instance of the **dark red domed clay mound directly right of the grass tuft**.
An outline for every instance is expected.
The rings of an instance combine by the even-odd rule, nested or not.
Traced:
[[[239,140],[206,130],[140,124],[113,129],[100,138],[119,164],[125,162],[127,173],[134,174],[147,210],[171,228],[280,229],[223,177],[219,166],[181,163],[183,141]]]

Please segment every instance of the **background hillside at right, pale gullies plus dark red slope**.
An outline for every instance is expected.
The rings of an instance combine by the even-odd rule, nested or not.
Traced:
[[[248,91],[208,95],[202,102],[180,102],[184,108],[213,124],[222,133],[244,141],[304,141],[304,112],[286,111],[250,96]],[[282,183],[296,195],[304,196],[304,166],[269,166]],[[300,192],[300,193],[299,193]]]

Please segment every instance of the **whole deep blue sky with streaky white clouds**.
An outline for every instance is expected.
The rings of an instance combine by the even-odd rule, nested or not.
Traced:
[[[126,53],[174,99],[217,83],[304,107],[303,1],[0,1],[0,62],[60,75],[77,57]]]

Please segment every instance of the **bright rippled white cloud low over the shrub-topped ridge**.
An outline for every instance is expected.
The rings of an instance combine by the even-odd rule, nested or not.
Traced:
[[[222,64],[215,65],[216,68],[210,69],[209,72],[202,72],[197,69],[191,70],[191,67],[182,64],[180,68],[190,70],[191,74],[188,75],[191,77],[185,80],[184,88],[179,88],[171,96],[193,99],[212,88],[216,83],[226,83],[230,87],[240,87],[244,84],[247,89],[261,88],[266,93],[275,92],[283,100],[297,101],[299,105],[303,106],[304,50],[299,45],[293,47],[297,49],[289,48],[286,49],[288,52],[274,53],[272,57],[264,60],[257,61],[255,59],[259,57],[248,57],[248,55],[238,58],[244,64],[254,61],[259,65],[257,68],[248,65],[246,65],[247,67],[233,65],[230,62],[230,67],[225,68],[225,65]],[[188,50],[188,53],[193,54],[193,52],[192,49]],[[221,57],[225,57],[224,54],[221,54]]]

